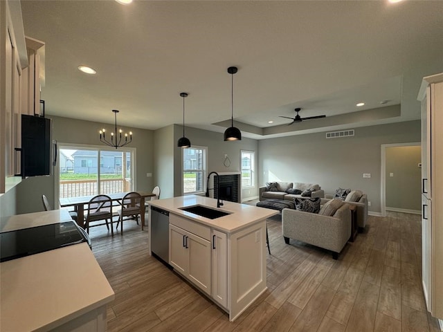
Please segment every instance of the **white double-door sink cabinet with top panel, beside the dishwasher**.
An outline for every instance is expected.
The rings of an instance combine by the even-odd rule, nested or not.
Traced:
[[[169,230],[171,266],[201,291],[211,295],[211,243],[208,237],[199,236],[209,235],[210,228],[170,215]],[[197,230],[198,234],[192,230]]]

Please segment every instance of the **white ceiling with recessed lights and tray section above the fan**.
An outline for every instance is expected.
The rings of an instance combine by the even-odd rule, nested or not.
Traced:
[[[443,71],[443,1],[21,0],[21,9],[26,36],[46,44],[46,113],[104,124],[112,109],[127,127],[181,124],[187,92],[186,125],[223,132],[229,66],[239,68],[234,120],[246,137],[415,120],[421,78]],[[296,107],[326,118],[288,126],[279,116]]]

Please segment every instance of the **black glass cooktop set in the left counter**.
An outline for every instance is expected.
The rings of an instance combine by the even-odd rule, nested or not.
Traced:
[[[0,233],[0,261],[10,261],[48,250],[88,242],[89,237],[74,221],[52,223]]]

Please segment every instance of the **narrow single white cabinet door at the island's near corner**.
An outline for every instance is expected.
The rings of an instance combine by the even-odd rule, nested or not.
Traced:
[[[228,309],[228,239],[213,230],[213,299]]]

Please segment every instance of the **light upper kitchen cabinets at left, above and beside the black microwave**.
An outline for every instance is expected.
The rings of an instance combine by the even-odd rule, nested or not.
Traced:
[[[20,1],[0,1],[0,194],[21,180],[21,114],[40,113],[44,43],[24,35]]]

